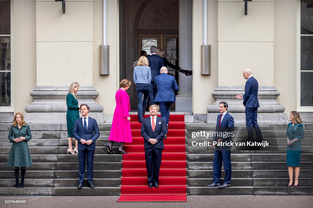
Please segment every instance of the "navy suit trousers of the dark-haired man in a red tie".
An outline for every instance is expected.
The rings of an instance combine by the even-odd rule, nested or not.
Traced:
[[[230,183],[232,177],[232,164],[230,160],[230,150],[215,149],[213,158],[213,183],[221,182],[222,161],[224,163],[225,178],[224,183]]]

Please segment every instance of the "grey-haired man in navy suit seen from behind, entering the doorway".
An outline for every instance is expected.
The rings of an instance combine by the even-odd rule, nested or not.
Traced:
[[[154,78],[159,75],[159,71],[162,66],[165,66],[163,58],[156,55],[157,47],[151,46],[150,52],[151,56],[148,57],[149,67],[151,69],[151,82],[150,82],[150,91],[149,91],[149,100],[150,105],[154,105],[154,99],[156,97],[157,89],[154,86]]]

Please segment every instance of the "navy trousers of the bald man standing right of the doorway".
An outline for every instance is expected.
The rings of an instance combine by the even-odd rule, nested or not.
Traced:
[[[262,133],[260,127],[258,125],[258,108],[246,108],[246,127],[248,131],[248,139],[247,141],[253,142],[253,129],[255,130],[257,142],[262,142]]]

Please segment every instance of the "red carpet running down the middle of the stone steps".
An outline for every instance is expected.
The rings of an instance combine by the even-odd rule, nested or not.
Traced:
[[[144,115],[144,118],[149,115]],[[160,115],[158,115],[160,116]],[[186,201],[186,146],[184,115],[170,115],[167,139],[164,139],[159,188],[149,188],[144,139],[137,115],[131,115],[132,143],[125,143],[121,196],[123,201]]]

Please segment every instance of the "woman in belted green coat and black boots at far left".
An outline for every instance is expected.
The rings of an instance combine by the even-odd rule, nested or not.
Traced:
[[[26,124],[22,113],[14,115],[8,138],[12,144],[7,166],[14,167],[15,187],[24,188],[26,167],[33,165],[28,148],[28,141],[32,138],[29,125]],[[21,167],[22,180],[18,184],[19,167]]]

